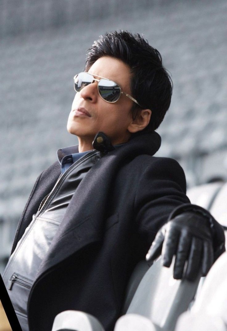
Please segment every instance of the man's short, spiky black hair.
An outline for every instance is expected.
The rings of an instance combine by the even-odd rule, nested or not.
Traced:
[[[102,56],[111,56],[129,66],[132,96],[142,106],[133,105],[133,118],[142,109],[150,109],[151,119],[144,130],[157,129],[169,109],[173,90],[172,79],[162,65],[160,53],[139,33],[121,30],[107,32],[94,41],[88,49],[85,69],[88,70]]]

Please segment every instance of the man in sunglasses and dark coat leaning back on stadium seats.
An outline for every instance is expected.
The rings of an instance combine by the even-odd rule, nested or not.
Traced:
[[[74,88],[67,129],[79,146],[59,150],[38,177],[4,272],[23,330],[50,330],[68,309],[112,330],[129,276],[159,229],[147,259],[165,239],[164,264],[177,255],[176,278],[186,260],[185,277],[201,263],[206,274],[224,249],[222,228],[190,205],[182,168],[153,157],[172,94],[159,52],[138,34],[107,33],[89,49]]]

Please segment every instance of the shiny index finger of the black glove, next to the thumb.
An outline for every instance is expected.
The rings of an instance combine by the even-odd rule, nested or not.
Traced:
[[[168,224],[162,248],[163,265],[165,267],[171,265],[173,256],[177,252],[179,234],[179,231],[171,223]]]

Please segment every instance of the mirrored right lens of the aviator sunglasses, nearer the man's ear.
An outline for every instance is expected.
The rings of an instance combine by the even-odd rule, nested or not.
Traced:
[[[113,80],[100,79],[98,89],[100,96],[108,102],[116,102],[120,97],[120,87]]]

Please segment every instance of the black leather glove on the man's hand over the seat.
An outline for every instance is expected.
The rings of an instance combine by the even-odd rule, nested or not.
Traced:
[[[193,207],[196,208],[193,210]],[[169,222],[158,231],[146,255],[146,260],[155,260],[162,254],[163,265],[169,267],[173,256],[176,255],[174,278],[183,277],[193,281],[200,270],[201,275],[206,276],[213,264],[213,221],[216,221],[210,213],[198,206],[187,205],[184,209],[178,209],[178,212],[181,211],[183,213],[177,215],[176,212],[172,213]],[[219,255],[224,251],[223,237],[224,232],[223,236],[221,233],[222,242],[219,242],[220,245],[218,246]]]

